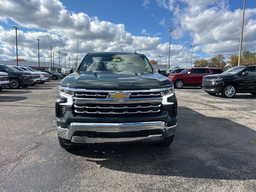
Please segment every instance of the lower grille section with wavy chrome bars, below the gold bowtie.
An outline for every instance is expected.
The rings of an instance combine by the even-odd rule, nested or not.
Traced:
[[[158,103],[126,103],[126,104],[95,104],[85,103],[73,105],[76,114],[156,114],[161,111]]]

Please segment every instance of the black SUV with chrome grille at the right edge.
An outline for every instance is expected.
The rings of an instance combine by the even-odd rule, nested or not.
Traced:
[[[222,74],[204,76],[202,89],[226,98],[233,98],[236,93],[256,95],[256,65],[232,67]]]

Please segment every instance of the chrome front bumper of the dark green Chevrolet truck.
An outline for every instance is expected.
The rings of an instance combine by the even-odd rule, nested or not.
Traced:
[[[161,141],[166,137],[173,136],[176,125],[167,127],[165,122],[136,122],[136,123],[71,123],[68,128],[57,127],[58,136],[78,143],[115,143],[115,142],[151,142]],[[129,138],[88,138],[73,136],[76,131],[95,131],[95,132],[127,132],[140,130],[160,129],[162,134],[149,135],[143,137]]]

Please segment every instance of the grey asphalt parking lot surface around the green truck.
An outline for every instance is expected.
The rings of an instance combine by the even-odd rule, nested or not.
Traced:
[[[0,92],[0,191],[256,191],[255,96],[176,90],[169,148],[66,151],[54,127],[58,83]]]

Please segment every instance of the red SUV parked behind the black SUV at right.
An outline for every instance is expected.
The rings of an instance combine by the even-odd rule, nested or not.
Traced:
[[[180,73],[170,74],[168,77],[175,88],[181,89],[184,86],[201,86],[204,76],[220,73],[222,70],[218,68],[190,68]]]

